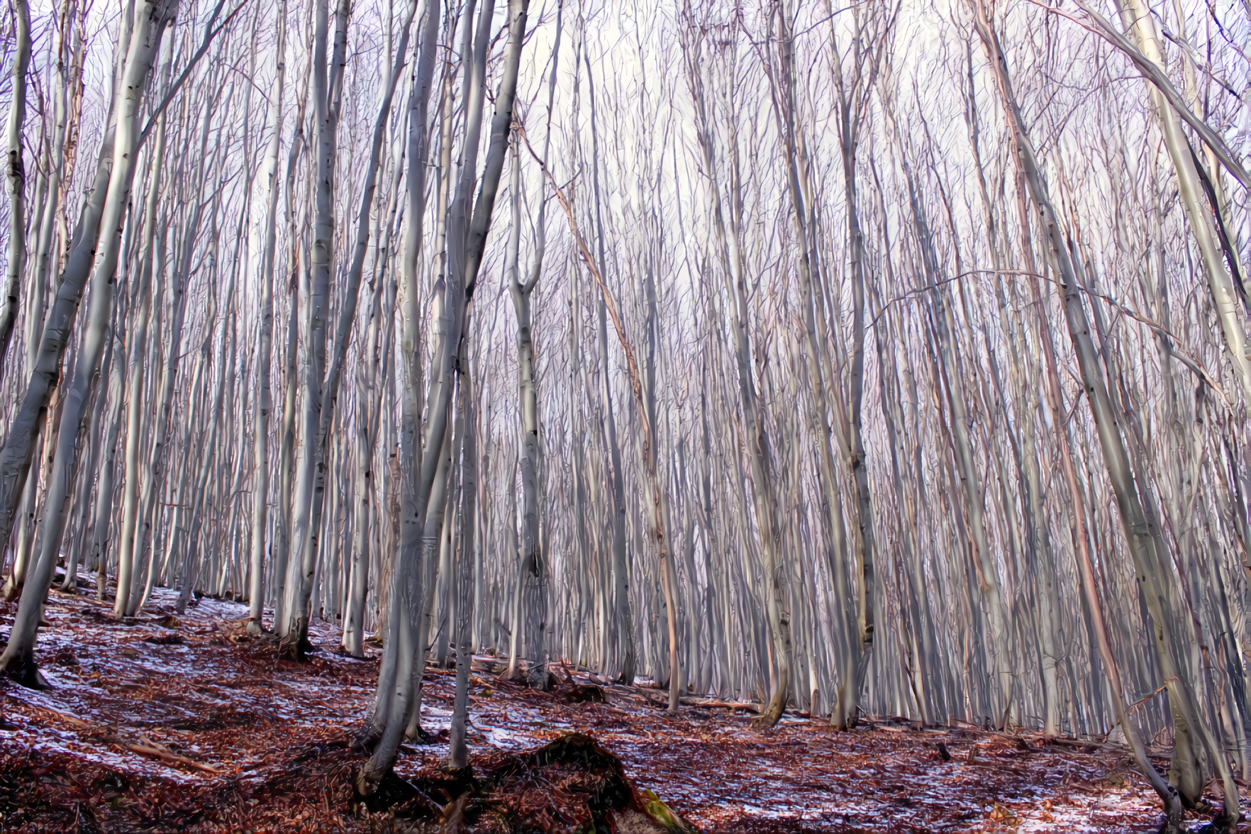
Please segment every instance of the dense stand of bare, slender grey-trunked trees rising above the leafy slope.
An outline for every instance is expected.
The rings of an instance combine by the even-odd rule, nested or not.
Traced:
[[[762,738],[1093,740],[1166,830],[1238,830],[1247,0],[0,25],[14,698],[65,594],[119,635],[211,598],[375,663],[358,799],[442,670],[473,764],[495,658]]]

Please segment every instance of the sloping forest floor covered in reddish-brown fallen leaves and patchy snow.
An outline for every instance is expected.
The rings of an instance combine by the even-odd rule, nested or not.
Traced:
[[[353,811],[363,758],[350,740],[377,658],[339,654],[338,630],[317,621],[310,639],[322,650],[288,663],[269,640],[243,635],[244,605],[204,598],[174,616],[173,603],[156,589],[143,616],[123,624],[94,596],[50,595],[38,658],[51,688],[0,681],[0,831],[404,830]],[[15,611],[0,603],[0,641]],[[475,658],[475,766],[585,733],[639,790],[703,831],[1155,831],[1162,820],[1116,748],[889,720],[838,733],[792,713],[761,733],[748,709],[668,716],[663,691],[617,685],[603,686],[604,704],[580,703],[569,686],[537,693],[492,666]],[[453,681],[427,675],[430,736],[402,748],[402,776],[437,773]],[[573,683],[603,681],[579,671]]]

